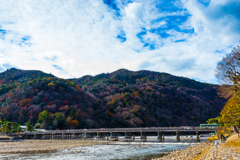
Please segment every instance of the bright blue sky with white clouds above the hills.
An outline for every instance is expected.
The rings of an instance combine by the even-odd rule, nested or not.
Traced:
[[[151,70],[215,83],[240,41],[239,0],[0,0],[0,72]]]

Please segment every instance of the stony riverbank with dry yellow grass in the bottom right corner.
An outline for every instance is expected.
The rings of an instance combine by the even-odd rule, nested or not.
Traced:
[[[233,135],[225,143],[214,145],[203,142],[182,150],[170,152],[154,160],[240,160],[240,138]]]

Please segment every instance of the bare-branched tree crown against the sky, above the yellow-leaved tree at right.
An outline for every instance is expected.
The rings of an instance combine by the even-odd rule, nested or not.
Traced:
[[[216,78],[227,93],[240,91],[240,46],[233,48],[217,65]]]

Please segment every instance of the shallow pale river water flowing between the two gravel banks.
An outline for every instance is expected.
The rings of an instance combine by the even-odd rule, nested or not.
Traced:
[[[151,140],[150,140],[151,141]],[[163,156],[172,150],[184,149],[195,143],[182,141],[180,143],[168,142],[144,144],[123,144],[122,142],[113,145],[81,146],[72,149],[64,149],[47,153],[24,153],[24,154],[0,154],[3,160],[150,160]],[[190,140],[191,141],[191,140]],[[193,141],[192,141],[193,142]]]

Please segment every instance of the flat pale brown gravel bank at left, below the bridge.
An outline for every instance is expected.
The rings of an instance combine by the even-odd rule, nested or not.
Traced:
[[[0,154],[49,152],[60,149],[70,149],[79,146],[104,145],[107,142],[84,140],[23,140],[12,142],[0,142]]]

